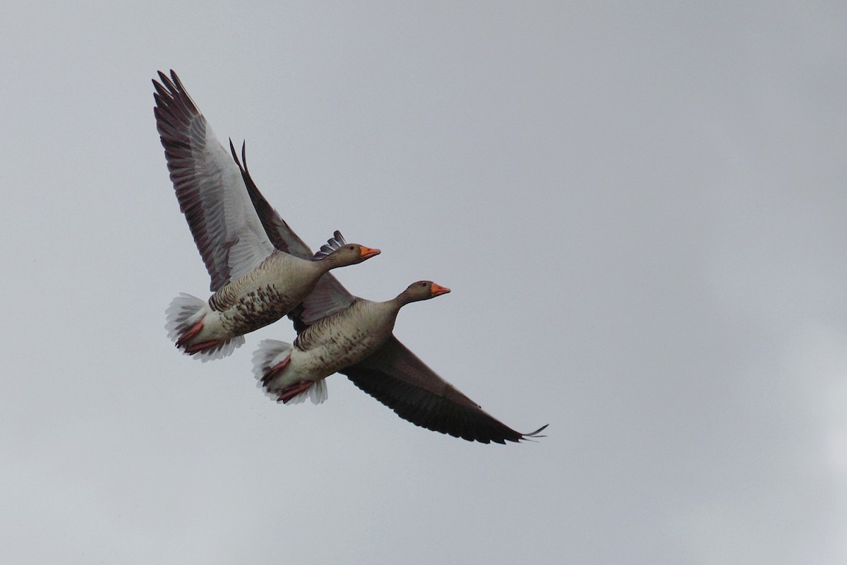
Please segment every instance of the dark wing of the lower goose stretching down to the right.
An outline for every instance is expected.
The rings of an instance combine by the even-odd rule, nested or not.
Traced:
[[[519,441],[544,437],[539,434],[547,427],[529,434],[508,427],[435,374],[393,335],[362,363],[339,372],[401,418],[463,440]]]

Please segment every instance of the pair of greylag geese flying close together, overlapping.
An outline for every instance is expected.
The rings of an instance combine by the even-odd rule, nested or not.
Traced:
[[[259,385],[277,402],[323,402],[326,377],[340,373],[424,428],[483,443],[543,437],[546,426],[521,434],[491,417],[392,334],[402,306],[450,289],[421,280],[386,302],[352,296],[329,270],[379,249],[347,243],[336,231],[311,252],[259,192],[245,147],[239,158],[230,140],[228,154],[174,71],[158,75],[156,126],[213,291],[208,300],[180,294],[171,302],[165,328],[177,347],[203,361],[225,357],[246,333],[287,314],[294,343],[265,340],[252,357]]]

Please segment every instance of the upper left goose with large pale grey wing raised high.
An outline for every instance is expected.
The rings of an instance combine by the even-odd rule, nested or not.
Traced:
[[[291,254],[268,239],[246,191],[242,164],[214,136],[179,77],[159,72],[156,127],[180,210],[212,279],[208,300],[180,294],[166,311],[165,329],[175,345],[202,361],[229,355],[244,334],[285,316],[314,290],[329,269],[379,254],[348,244],[338,231],[314,256]],[[252,181],[251,181],[252,182]]]

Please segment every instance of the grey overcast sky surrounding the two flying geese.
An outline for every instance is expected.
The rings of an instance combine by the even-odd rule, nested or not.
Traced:
[[[0,561],[847,562],[847,4],[4,3]],[[175,69],[396,335],[538,443],[167,339]]]

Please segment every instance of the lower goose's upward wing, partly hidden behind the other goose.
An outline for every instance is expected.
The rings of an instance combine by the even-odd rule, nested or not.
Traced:
[[[295,257],[307,260],[313,259],[313,253],[309,246],[294,233],[294,230],[291,230],[291,227],[280,217],[280,214],[276,213],[276,210],[259,191],[256,183],[253,182],[250,171],[247,169],[245,145],[241,144],[241,160],[235,152],[232,140],[230,140],[230,152],[232,152],[232,158],[235,159],[238,169],[241,170],[241,177],[244,180],[247,194],[250,195],[253,208],[256,209],[258,218],[262,222],[265,234],[274,243],[274,247]],[[350,294],[338,282],[338,279],[327,273],[318,280],[315,290],[306,297],[302,305],[292,310],[288,317],[294,321],[294,328],[299,333],[319,319],[324,319],[350,306],[355,298],[356,296]]]

